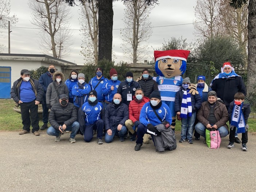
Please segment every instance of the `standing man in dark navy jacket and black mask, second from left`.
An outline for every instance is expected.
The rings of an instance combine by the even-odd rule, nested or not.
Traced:
[[[44,94],[43,94],[43,126],[41,127],[41,130],[47,129],[47,123],[48,123],[48,108],[46,106],[46,91],[47,87],[50,85],[50,83],[53,82],[53,74],[55,72],[55,66],[53,64],[49,65],[48,71],[44,74],[42,74],[39,78],[39,83],[43,87]],[[64,81],[64,79],[63,79]]]

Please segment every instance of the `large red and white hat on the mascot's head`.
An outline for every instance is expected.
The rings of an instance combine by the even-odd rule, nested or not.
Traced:
[[[187,57],[190,51],[187,50],[167,50],[167,51],[154,51],[155,61],[160,59],[180,59],[187,62]]]

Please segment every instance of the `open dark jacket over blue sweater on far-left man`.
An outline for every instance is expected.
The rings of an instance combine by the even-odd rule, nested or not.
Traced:
[[[23,79],[20,77],[18,80],[13,82],[13,86],[11,89],[11,98],[16,102],[19,103],[20,101],[20,85],[22,83]],[[43,101],[43,87],[40,85],[39,81],[30,78],[30,83],[32,86],[32,89],[36,96],[36,101],[39,101],[40,103]]]

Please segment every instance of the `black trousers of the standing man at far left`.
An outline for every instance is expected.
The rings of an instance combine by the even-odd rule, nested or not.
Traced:
[[[30,114],[29,114],[30,110]],[[30,131],[30,125],[32,125],[32,133],[39,130],[39,116],[38,105],[35,105],[35,101],[28,103],[20,103],[20,111],[22,114],[23,130]],[[31,119],[30,119],[31,118]]]

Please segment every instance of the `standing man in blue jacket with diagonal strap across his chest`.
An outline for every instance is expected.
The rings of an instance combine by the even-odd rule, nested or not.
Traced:
[[[108,81],[108,79],[103,76],[103,69],[100,67],[96,69],[96,76],[89,81],[89,85],[92,87],[92,90],[97,91],[97,99],[102,103],[102,105],[105,103],[105,95],[102,93],[102,87],[106,81]]]

